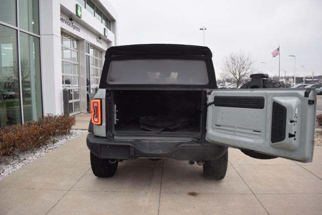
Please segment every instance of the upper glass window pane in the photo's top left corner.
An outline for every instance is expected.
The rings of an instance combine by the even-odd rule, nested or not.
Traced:
[[[0,21],[17,26],[16,1],[1,0]]]

